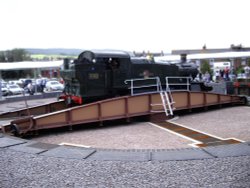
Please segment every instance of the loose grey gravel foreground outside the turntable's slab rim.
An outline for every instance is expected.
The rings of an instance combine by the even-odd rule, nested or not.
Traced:
[[[168,162],[89,161],[0,150],[0,187],[249,187],[250,156]]]

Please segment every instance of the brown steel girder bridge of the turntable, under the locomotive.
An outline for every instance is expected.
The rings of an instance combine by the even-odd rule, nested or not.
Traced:
[[[121,96],[71,108],[67,108],[64,101],[58,101],[43,106],[31,107],[28,111],[22,109],[1,114],[1,118],[19,116],[19,118],[3,125],[2,132],[24,136],[39,130],[59,127],[72,129],[72,127],[84,126],[84,124],[92,122],[102,124],[105,121],[119,119],[130,121],[131,118],[138,116],[148,116],[152,122],[167,127],[163,124],[166,123],[166,119],[173,117],[173,112],[207,109],[211,106],[236,105],[244,102],[245,98],[239,96],[190,91],[168,91],[162,94],[162,90],[160,92]],[[30,116],[27,116],[28,113]],[[171,129],[171,126],[168,129]],[[183,131],[185,132],[185,130]],[[208,136],[206,135],[206,137]],[[215,142],[217,141],[215,139]],[[220,143],[239,142],[229,140]],[[202,146],[202,143],[198,146]],[[205,145],[203,144],[203,146]]]

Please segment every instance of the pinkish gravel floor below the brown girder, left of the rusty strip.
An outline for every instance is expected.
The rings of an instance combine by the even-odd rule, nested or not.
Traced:
[[[191,147],[188,144],[192,143],[149,123],[54,132],[33,137],[32,140],[52,144],[66,142],[110,149],[174,149]]]

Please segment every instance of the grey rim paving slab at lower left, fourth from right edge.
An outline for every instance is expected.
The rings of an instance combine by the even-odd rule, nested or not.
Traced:
[[[50,149],[42,153],[41,155],[50,156],[50,157],[85,159],[94,152],[95,152],[95,149],[59,146],[57,148]]]

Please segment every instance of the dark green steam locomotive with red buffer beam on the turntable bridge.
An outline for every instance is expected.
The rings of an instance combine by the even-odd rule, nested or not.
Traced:
[[[165,77],[198,74],[193,63],[158,63],[154,59],[138,58],[124,51],[83,51],[77,59],[64,59],[61,76],[65,90],[60,97],[68,104],[129,94],[125,80],[159,77],[165,85]]]

